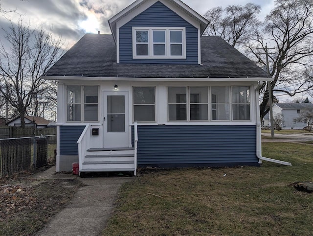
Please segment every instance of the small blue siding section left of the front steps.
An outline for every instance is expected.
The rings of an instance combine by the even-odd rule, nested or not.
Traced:
[[[60,155],[77,156],[77,141],[85,126],[60,126]]]

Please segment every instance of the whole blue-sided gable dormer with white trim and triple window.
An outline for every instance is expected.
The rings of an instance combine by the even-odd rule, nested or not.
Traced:
[[[117,63],[201,64],[208,22],[180,0],[136,0],[109,24]]]

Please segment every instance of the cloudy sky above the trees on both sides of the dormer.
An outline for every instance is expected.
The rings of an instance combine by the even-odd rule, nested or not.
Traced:
[[[53,32],[62,36],[72,46],[85,33],[111,33],[108,19],[130,5],[134,0],[0,0],[4,10],[16,10],[32,27],[37,24],[52,25]],[[245,5],[248,2],[261,4],[260,18],[267,15],[274,6],[274,0],[183,0],[192,9],[203,15],[208,9],[231,4]],[[261,3],[260,3],[261,2]],[[11,13],[13,21],[19,14]],[[8,17],[8,16],[7,16]],[[7,20],[0,16],[2,27]],[[0,30],[0,37],[3,32]]]

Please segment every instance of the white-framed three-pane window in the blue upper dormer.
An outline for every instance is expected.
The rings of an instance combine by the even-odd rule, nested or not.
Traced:
[[[185,27],[133,27],[134,59],[185,59]]]

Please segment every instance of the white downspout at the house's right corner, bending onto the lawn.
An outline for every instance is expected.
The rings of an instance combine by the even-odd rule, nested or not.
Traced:
[[[258,86],[255,89],[255,98],[256,98],[256,156],[259,158],[259,164],[262,164],[263,161],[274,162],[282,165],[291,165],[290,162],[279,161],[271,159],[268,157],[262,157],[262,138],[261,138],[261,118],[260,118],[260,108],[258,106],[259,101],[259,88],[261,87],[262,81],[258,82]]]

